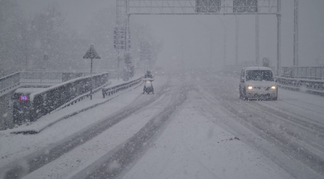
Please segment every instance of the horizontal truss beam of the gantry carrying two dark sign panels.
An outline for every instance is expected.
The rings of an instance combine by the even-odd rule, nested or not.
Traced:
[[[278,0],[129,0],[128,14],[276,14]]]

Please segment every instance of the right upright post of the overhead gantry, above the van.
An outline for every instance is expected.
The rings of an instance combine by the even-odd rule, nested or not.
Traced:
[[[281,0],[277,0],[277,75],[281,76]]]

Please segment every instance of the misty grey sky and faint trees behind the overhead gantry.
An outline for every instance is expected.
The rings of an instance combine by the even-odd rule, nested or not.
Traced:
[[[95,60],[94,69],[116,68],[113,48],[116,0],[0,2],[2,71],[32,68],[88,69],[90,62],[82,57],[90,44],[102,57]],[[323,7],[323,0],[300,0],[299,66],[324,64]],[[155,66],[176,69],[179,66],[206,68],[211,65],[219,70],[223,64],[234,64],[235,18],[235,15],[131,15],[133,59],[138,61],[140,58],[140,42],[149,41]],[[254,62],[255,15],[238,15],[238,18],[238,62]],[[263,57],[269,57],[273,66],[276,66],[276,15],[259,15],[259,27],[260,61]],[[293,66],[293,33],[294,0],[282,0],[283,67]],[[47,35],[50,35],[48,39],[44,38]],[[223,61],[224,35],[226,62]]]

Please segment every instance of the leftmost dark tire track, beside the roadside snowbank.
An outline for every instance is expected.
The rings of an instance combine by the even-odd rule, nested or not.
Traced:
[[[164,90],[167,88],[169,88],[169,86],[163,86],[160,90],[161,92],[158,92],[157,94],[153,95],[153,97],[149,100],[145,100],[143,103],[139,103],[137,105],[131,103],[130,105],[120,109],[114,114],[105,117],[92,125],[89,125],[85,129],[82,129],[79,132],[69,137],[66,137],[65,139],[62,139],[61,141],[56,142],[55,144],[52,144],[46,148],[36,151],[24,157],[21,160],[15,161],[4,168],[1,168],[0,178],[19,179],[50,163],[51,161],[56,160],[60,156],[70,152],[74,148],[98,136],[105,130],[122,121],[123,119],[126,119],[134,112],[137,112],[141,108],[153,103],[154,101],[159,99],[160,96],[162,96],[163,94],[167,93],[168,90],[170,90]]]

